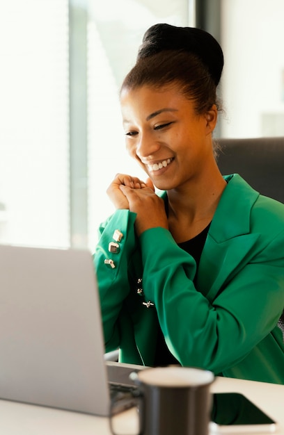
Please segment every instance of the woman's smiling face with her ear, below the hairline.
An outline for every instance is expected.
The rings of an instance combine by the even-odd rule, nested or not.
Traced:
[[[212,162],[216,108],[196,115],[177,87],[148,85],[121,94],[126,147],[161,190],[196,182]]]

